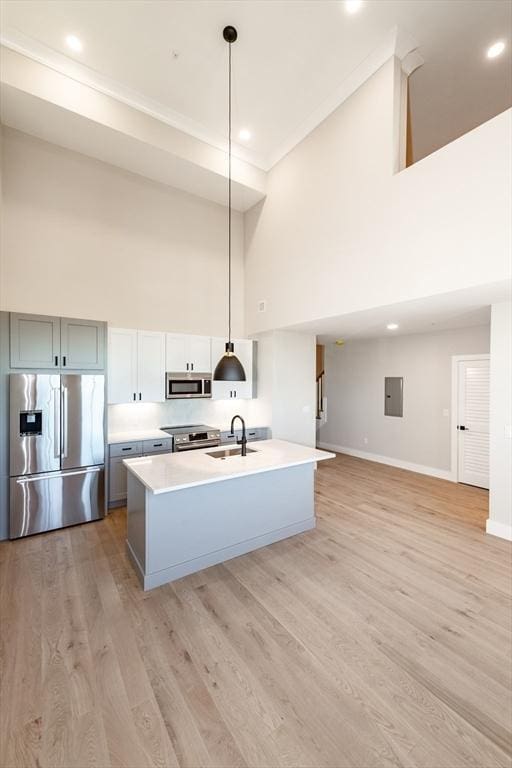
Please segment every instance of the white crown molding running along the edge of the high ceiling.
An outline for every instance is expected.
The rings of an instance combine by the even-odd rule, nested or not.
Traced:
[[[0,35],[0,44],[82,85],[93,88],[99,93],[110,96],[162,123],[170,125],[199,141],[227,152],[225,138],[208,130],[204,125],[166,107],[161,102],[150,99],[124,86],[117,80],[109,78],[85,64],[75,61],[17,29],[12,27],[6,28]],[[398,27],[394,27],[386,36],[385,41],[366,56],[348,77],[340,83],[338,88],[313,110],[273,152],[263,156],[239,144],[234,144],[233,155],[239,160],[268,172],[334,112],[335,109],[343,104],[366,80],[377,72],[389,58],[396,56],[402,62],[406,74],[409,74],[409,66],[407,64],[412,64],[413,60],[414,66],[412,66],[410,71],[420,66],[423,63],[423,59],[416,53],[417,48],[418,44],[408,33]],[[413,52],[414,56],[411,56]],[[409,57],[409,62],[406,61],[407,57]]]

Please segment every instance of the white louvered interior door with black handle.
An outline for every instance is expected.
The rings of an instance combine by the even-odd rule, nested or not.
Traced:
[[[489,487],[489,360],[458,364],[459,483]]]

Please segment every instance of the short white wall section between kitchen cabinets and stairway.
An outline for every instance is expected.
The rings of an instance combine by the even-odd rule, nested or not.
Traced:
[[[272,436],[314,446],[316,338],[273,331],[258,341],[258,416]]]

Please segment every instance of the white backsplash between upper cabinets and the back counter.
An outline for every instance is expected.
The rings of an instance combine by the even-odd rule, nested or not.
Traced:
[[[129,432],[177,424],[208,424],[229,429],[231,419],[240,414],[251,427],[270,426],[262,401],[254,400],[173,400],[169,403],[127,403],[109,405],[109,432]]]

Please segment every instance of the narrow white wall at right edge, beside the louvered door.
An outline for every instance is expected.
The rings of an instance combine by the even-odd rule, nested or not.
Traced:
[[[512,304],[491,309],[490,497],[487,532],[512,539]]]

